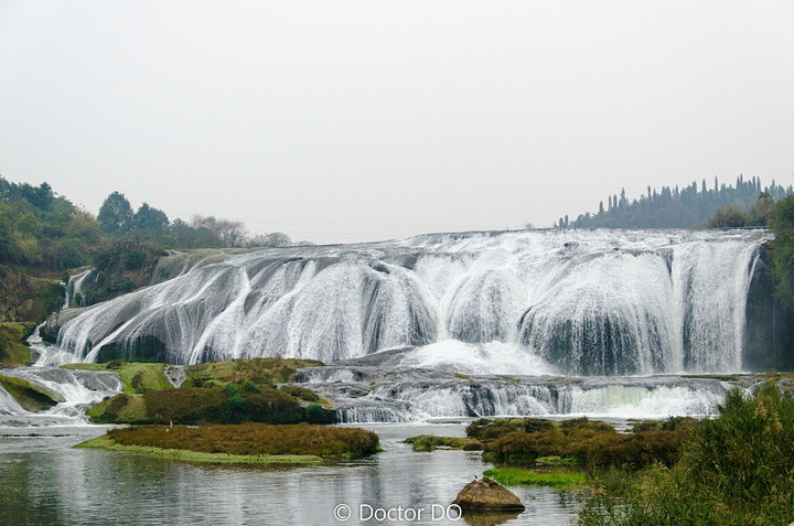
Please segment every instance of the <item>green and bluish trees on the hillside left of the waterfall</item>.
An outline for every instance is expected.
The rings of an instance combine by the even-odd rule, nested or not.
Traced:
[[[196,215],[190,223],[169,221],[164,212],[148,203],[133,212],[119,192],[108,195],[95,217],[46,182],[33,186],[0,176],[0,266],[39,272],[78,268],[93,264],[95,255],[119,238],[162,248],[293,245],[286,234],[251,235],[243,223],[214,216]]]

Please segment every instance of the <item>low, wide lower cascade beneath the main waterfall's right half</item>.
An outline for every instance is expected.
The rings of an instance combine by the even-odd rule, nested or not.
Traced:
[[[346,423],[481,417],[664,419],[717,414],[731,384],[715,378],[471,377],[438,372],[333,367],[303,369],[300,380],[335,400]],[[347,374],[343,374],[347,371]],[[348,378],[326,383],[324,378]]]

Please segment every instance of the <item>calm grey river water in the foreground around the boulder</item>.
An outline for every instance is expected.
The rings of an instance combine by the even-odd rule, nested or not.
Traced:
[[[463,436],[464,426],[363,427],[380,436],[383,453],[344,464],[276,469],[190,464],[71,448],[101,434],[99,426],[0,428],[0,524],[575,523],[580,495],[525,487],[512,489],[527,506],[521,515],[478,522],[457,519],[451,511],[452,516],[444,517],[442,506],[492,464],[478,452],[417,453],[401,440],[421,433]],[[378,520],[389,508],[394,520]],[[343,518],[350,509],[351,516],[340,520],[334,509]]]

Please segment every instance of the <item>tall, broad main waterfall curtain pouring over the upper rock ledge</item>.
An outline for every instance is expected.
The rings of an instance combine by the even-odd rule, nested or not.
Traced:
[[[528,230],[178,255],[178,277],[86,309],[58,345],[75,361],[189,364],[500,342],[565,374],[736,372],[770,238]]]

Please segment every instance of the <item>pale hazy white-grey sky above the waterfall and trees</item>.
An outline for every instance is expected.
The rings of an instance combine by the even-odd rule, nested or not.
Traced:
[[[791,1],[3,1],[0,174],[347,243],[794,183]]]

